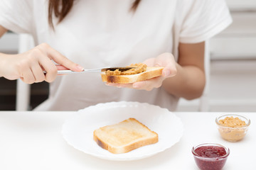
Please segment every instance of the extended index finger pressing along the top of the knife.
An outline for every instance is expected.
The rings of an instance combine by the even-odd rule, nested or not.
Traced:
[[[60,52],[54,50],[49,45],[42,44],[40,47],[44,48],[44,51],[47,52],[48,57],[50,57],[50,59],[54,60],[56,63],[63,65],[74,72],[81,72],[83,70],[83,67],[68,60],[67,57],[61,55]]]

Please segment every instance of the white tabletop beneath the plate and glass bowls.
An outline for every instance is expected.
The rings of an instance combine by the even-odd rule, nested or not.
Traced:
[[[224,170],[256,169],[256,113],[245,139],[222,140],[215,117],[222,113],[175,113],[184,133],[180,142],[164,152],[132,162],[114,162],[80,152],[63,140],[62,125],[74,112],[0,111],[0,169],[198,169],[191,148],[218,142],[230,148]]]

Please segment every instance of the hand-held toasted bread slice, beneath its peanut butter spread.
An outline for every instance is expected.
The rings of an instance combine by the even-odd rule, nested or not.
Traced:
[[[102,81],[116,84],[129,84],[137,81],[144,81],[161,75],[164,67],[146,67],[146,71],[131,75],[106,75],[102,73]]]

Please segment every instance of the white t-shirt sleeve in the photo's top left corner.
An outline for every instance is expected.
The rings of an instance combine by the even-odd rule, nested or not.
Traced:
[[[15,33],[31,33],[33,29],[32,0],[1,0],[0,25]]]

